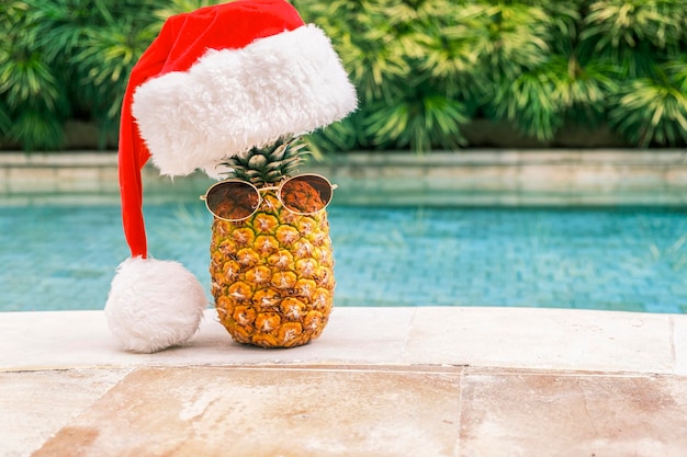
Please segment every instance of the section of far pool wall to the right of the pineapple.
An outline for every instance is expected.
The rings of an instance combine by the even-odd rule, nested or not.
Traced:
[[[687,151],[481,150],[350,155],[313,167],[356,202],[594,205],[687,202]],[[367,192],[360,192],[365,190]],[[391,191],[391,198],[390,192]],[[396,193],[396,195],[394,195]]]

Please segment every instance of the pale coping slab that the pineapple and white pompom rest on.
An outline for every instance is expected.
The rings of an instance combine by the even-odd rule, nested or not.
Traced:
[[[318,340],[300,347],[264,350],[234,343],[217,321],[216,311],[207,309],[199,332],[187,344],[155,354],[135,354],[119,349],[102,311],[5,312],[0,319],[0,369],[398,363],[414,313],[414,308],[335,308]]]

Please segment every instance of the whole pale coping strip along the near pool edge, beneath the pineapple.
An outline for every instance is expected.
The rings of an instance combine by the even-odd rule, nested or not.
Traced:
[[[363,364],[643,373],[687,376],[687,315],[545,308],[335,308],[323,336],[258,350],[230,341],[205,312],[189,343],[121,351],[104,313],[0,313],[0,372],[138,366]]]

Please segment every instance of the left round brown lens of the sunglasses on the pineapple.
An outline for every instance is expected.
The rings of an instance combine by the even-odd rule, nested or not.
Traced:
[[[232,181],[210,188],[205,203],[211,213],[221,219],[243,220],[256,212],[260,196],[250,184]]]

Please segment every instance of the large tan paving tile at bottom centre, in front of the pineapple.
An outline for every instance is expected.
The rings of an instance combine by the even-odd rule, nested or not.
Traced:
[[[453,456],[461,374],[138,368],[33,457]]]

